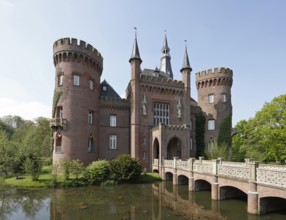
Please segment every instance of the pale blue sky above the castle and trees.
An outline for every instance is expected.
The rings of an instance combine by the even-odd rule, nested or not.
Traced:
[[[160,66],[166,34],[174,79],[187,40],[195,100],[195,73],[232,69],[235,125],[286,93],[285,11],[284,0],[0,0],[0,117],[51,117],[53,43],[64,37],[93,45],[101,81],[124,97],[137,27],[141,68]]]

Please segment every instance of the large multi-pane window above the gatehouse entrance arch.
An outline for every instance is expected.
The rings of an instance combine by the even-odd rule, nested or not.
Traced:
[[[169,124],[169,104],[154,103],[154,125]]]

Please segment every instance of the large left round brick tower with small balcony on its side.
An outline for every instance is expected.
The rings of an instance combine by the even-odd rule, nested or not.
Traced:
[[[52,106],[53,162],[98,157],[101,54],[90,44],[63,38],[53,45],[56,69]]]

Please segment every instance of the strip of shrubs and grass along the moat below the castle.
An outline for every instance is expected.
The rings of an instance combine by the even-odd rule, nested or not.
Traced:
[[[43,163],[46,164],[46,163]],[[34,179],[31,173],[6,178],[0,185],[17,187],[78,187],[88,185],[115,185],[119,183],[150,183],[160,181],[158,174],[142,174],[138,159],[120,155],[112,161],[98,160],[84,167],[78,160],[45,165]]]

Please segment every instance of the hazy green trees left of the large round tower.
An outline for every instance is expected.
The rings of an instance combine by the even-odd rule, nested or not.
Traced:
[[[0,170],[4,174],[12,172],[18,175],[25,170],[28,160],[31,162],[41,157],[50,157],[50,146],[51,129],[48,119],[30,121],[19,116],[0,118]],[[29,158],[30,155],[36,155],[37,158]]]

